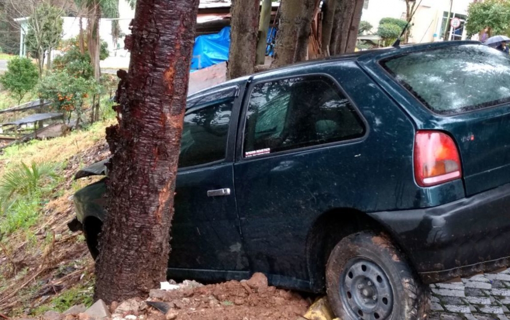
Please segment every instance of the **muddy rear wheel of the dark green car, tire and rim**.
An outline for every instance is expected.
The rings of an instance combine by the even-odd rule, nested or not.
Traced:
[[[343,320],[418,320],[430,306],[404,255],[384,234],[364,231],[338,242],[326,266],[326,291]]]

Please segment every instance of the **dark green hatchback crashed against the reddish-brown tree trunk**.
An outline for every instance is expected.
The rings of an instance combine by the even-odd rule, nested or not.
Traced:
[[[474,41],[331,57],[193,94],[168,276],[262,272],[327,292],[344,320],[423,318],[426,284],[510,265],[509,128],[510,58]],[[74,195],[93,256],[104,192],[101,180]]]

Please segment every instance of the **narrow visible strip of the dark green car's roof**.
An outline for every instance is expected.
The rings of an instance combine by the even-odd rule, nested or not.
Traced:
[[[345,61],[345,60],[352,60],[352,61],[358,61],[358,60],[380,60],[382,58],[387,58],[394,55],[401,55],[408,52],[413,51],[420,51],[420,50],[430,50],[433,48],[440,48],[440,47],[448,47],[448,46],[458,46],[458,45],[464,45],[464,44],[482,44],[479,41],[471,41],[471,40],[462,40],[462,41],[437,41],[437,42],[426,42],[426,43],[418,43],[418,44],[405,44],[398,47],[384,47],[384,48],[376,48],[372,50],[365,50],[365,51],[358,51],[354,53],[349,54],[343,54],[343,55],[336,55],[336,56],[330,56],[326,58],[319,58],[314,60],[308,60],[308,61],[302,61],[297,62],[294,64],[286,65],[279,68],[274,68],[258,73],[253,73],[249,76],[244,76],[241,78],[236,78],[230,81],[223,82],[221,84],[212,86],[207,89],[200,90],[198,92],[195,92],[188,96],[188,99],[193,99],[196,96],[199,96],[200,94],[203,94],[204,92],[212,89],[220,89],[223,87],[233,86],[233,85],[239,85],[242,84],[248,80],[250,80],[253,77],[259,77],[264,76],[269,73],[286,73],[287,71],[291,71],[296,68],[301,67],[308,67],[313,65],[322,64],[324,62],[334,62],[334,61]]]

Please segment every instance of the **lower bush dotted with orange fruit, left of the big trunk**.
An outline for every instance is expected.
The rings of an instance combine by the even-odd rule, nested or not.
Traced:
[[[69,125],[71,115],[83,114],[84,99],[90,92],[98,90],[94,79],[72,76],[66,70],[49,73],[38,86],[40,99],[52,102],[52,109],[64,114],[64,121]]]

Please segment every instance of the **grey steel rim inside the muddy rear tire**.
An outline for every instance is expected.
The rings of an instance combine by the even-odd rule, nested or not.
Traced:
[[[393,310],[393,289],[382,268],[364,257],[355,257],[340,278],[340,299],[353,319],[385,320]]]

